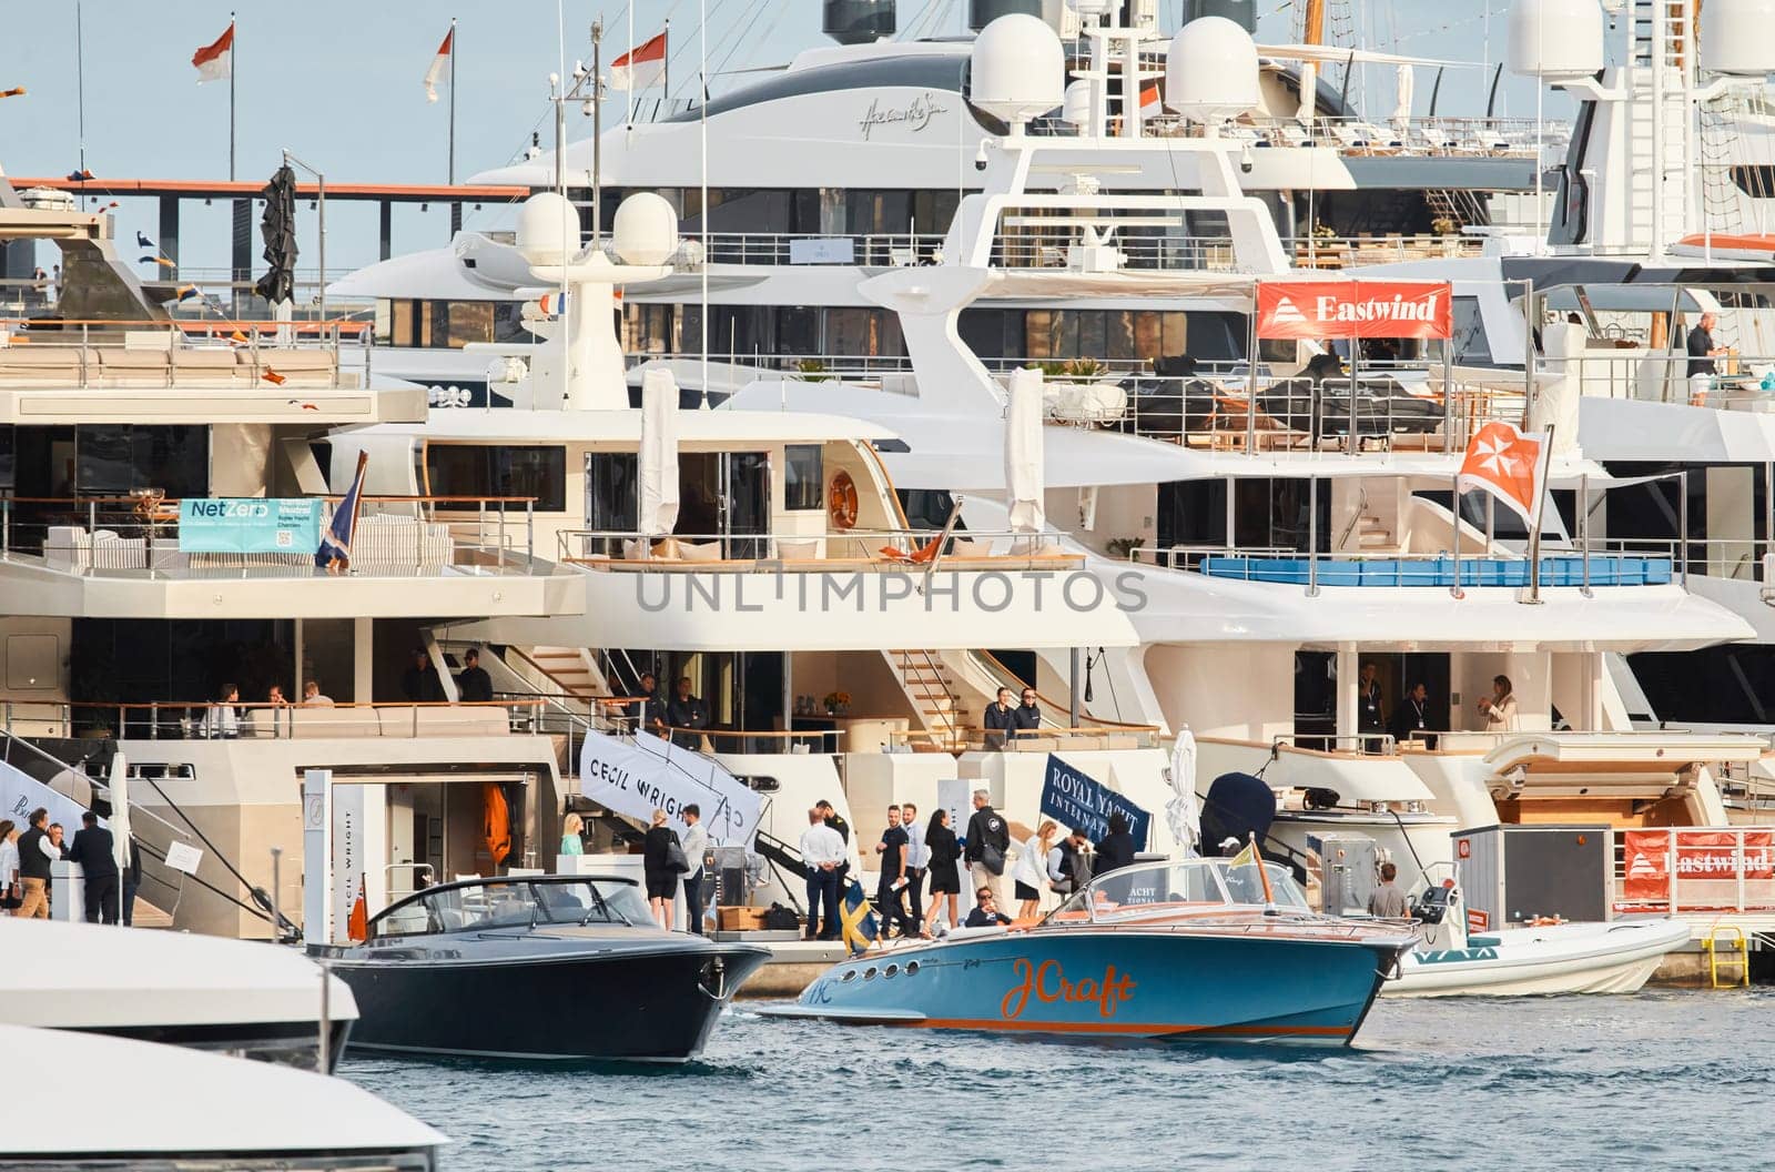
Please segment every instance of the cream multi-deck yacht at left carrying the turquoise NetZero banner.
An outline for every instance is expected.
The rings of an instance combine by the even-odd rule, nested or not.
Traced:
[[[373,817],[394,843],[341,881],[341,925],[360,881],[380,904],[524,865],[554,836],[563,749],[534,732],[536,701],[451,703],[460,666],[419,620],[577,606],[525,540],[538,487],[501,469],[451,503],[458,531],[433,501],[328,495],[328,430],[422,421],[424,394],[364,385],[335,323],[170,320],[112,231],[105,213],[25,208],[0,179],[0,238],[55,242],[67,273],[59,316],[0,323],[9,797],[39,785],[108,813],[126,781],[138,899],[224,936],[280,934],[277,909],[300,906],[311,769],[353,835]],[[337,519],[348,558],[328,570],[316,552],[341,508],[355,524]]]

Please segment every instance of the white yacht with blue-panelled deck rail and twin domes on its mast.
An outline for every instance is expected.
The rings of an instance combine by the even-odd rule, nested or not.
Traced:
[[[1092,36],[1113,59],[1138,34],[1106,25]],[[992,67],[999,51],[1042,59],[1061,48],[1035,21],[996,25],[974,41],[976,105],[1026,121],[1054,94],[987,87],[1008,76]],[[1454,337],[1408,339],[1386,357],[1351,343],[1349,371],[1335,360],[1322,378],[1310,376],[1322,344],[1267,341],[1266,288],[1363,305],[1369,270],[1299,284],[1262,201],[1244,192],[1242,147],[1216,130],[1248,108],[1257,60],[1230,23],[1196,21],[1172,43],[1166,101],[1203,128],[1200,137],[1102,133],[1086,135],[1086,149],[1014,128],[989,142],[985,192],[962,201],[944,263],[863,286],[898,314],[912,373],[761,380],[730,407],[822,403],[888,426],[905,442],[882,455],[902,492],[958,494],[967,524],[994,526],[1010,472],[990,458],[998,444],[980,439],[1010,430],[1014,394],[957,329],[966,307],[1026,297],[1065,313],[1132,288],[1232,314],[1232,336],[1255,336],[1237,362],[1195,362],[1170,378],[1097,362],[1056,373],[1060,385],[1044,380],[1045,511],[1069,527],[1077,519],[1061,545],[1106,577],[1134,574],[1143,598],[1131,613],[1138,650],[1106,648],[1092,710],[1104,714],[1113,696],[1118,719],[1187,726],[1200,778],[1264,778],[1278,796],[1282,854],[1303,870],[1315,840],[1345,829],[1383,842],[1402,875],[1422,883],[1448,874],[1459,828],[1548,819],[1617,833],[1722,826],[1716,774],[1757,762],[1766,742],[1637,730],[1608,657],[1686,653],[1748,637],[1750,625],[1692,591],[1668,550],[1594,540],[1583,519],[1619,485],[1582,453],[1553,456],[1557,508],[1546,513],[1539,558],[1526,556],[1526,535],[1498,510],[1452,492],[1486,423],[1550,419],[1542,384],[1466,362],[1459,346],[1475,321],[1459,311]],[[1097,96],[1093,108],[1111,103]],[[1186,194],[1120,190],[1122,178],[1150,167],[1179,176]],[[1070,186],[1037,190],[1031,176],[1054,170],[1072,176]],[[1212,217],[1219,233],[1168,268],[1125,263],[1120,222],[1186,215]],[[1006,226],[1035,217],[1060,226],[1065,266],[1001,261]],[[1466,288],[1432,282],[1408,293],[1447,300]],[[1495,353],[1509,353],[1512,336],[1528,344],[1521,305],[1514,314],[1507,300],[1479,309]],[[1338,400],[1342,414],[1328,410]],[[1415,408],[1395,410],[1406,400]],[[1367,726],[1363,675],[1383,696],[1383,719]],[[1496,677],[1514,696],[1516,716],[1503,723],[1475,710]],[[1434,716],[1397,730],[1392,717],[1415,684],[1427,687]],[[1012,803],[1014,817],[1033,815],[1035,794],[1022,803]]]

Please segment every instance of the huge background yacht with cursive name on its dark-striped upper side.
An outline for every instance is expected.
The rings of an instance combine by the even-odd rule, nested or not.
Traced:
[[[760,364],[903,369],[895,314],[857,286],[886,270],[939,259],[958,201],[982,190],[982,144],[1006,126],[973,98],[967,66],[974,39],[999,14],[1033,12],[1067,44],[1065,59],[1053,62],[1065,83],[1069,71],[1088,67],[1079,12],[1090,5],[971,0],[967,30],[953,37],[921,36],[925,14],[902,21],[896,0],[831,0],[822,25],[834,44],[731,83],[715,78],[715,96],[703,105],[639,94],[630,117],[607,103],[596,151],[588,139],[483,170],[472,181],[559,190],[573,201],[582,226],[604,234],[625,195],[666,197],[687,243],[669,279],[630,289],[625,348],[634,362],[671,364],[687,391],[706,391],[719,401]],[[1303,265],[1340,268],[1477,252],[1480,238],[1463,229],[1516,234],[1537,224],[1537,140],[1558,144],[1566,126],[1548,119],[1537,128],[1534,119],[1493,117],[1489,108],[1450,112],[1443,75],[1477,73],[1477,60],[1337,43],[1326,7],[1319,0],[1299,5],[1303,18],[1289,30],[1282,28],[1285,20],[1266,20],[1285,43],[1262,46],[1253,105],[1228,131],[1241,144],[1246,190],[1264,201],[1290,254]],[[1182,5],[1184,21],[1195,12],[1227,12],[1257,30],[1257,5],[1246,0]],[[1127,133],[1180,137],[1187,128],[1163,107],[1152,83],[1164,71],[1170,36],[1161,30],[1159,5],[1134,4],[1129,25],[1143,32],[1131,57],[1143,80],[1138,99],[1115,98],[1109,114]],[[1376,75],[1384,75],[1395,94],[1388,108],[1351,96],[1363,78],[1377,82]],[[1374,83],[1369,92],[1386,87]],[[1040,112],[1030,133],[1081,137],[1085,108],[1077,98],[1079,91]],[[1065,176],[1047,172],[1031,183],[1060,190]],[[1152,194],[1179,188],[1164,169],[1120,183]],[[998,247],[1060,265],[1063,243],[1051,227],[1008,226]],[[1203,233],[1180,222],[1127,226],[1125,234],[1138,242],[1129,263],[1154,268],[1168,265],[1164,256],[1195,247],[1191,238]],[[506,242],[499,231],[465,231],[446,249],[359,270],[332,284],[328,297],[375,300],[375,371],[438,392],[456,387],[472,401],[490,392],[501,403],[501,387],[488,389],[486,359],[469,346],[527,341],[522,305],[538,289],[524,266],[501,263]],[[1138,289],[1100,298],[1076,316],[1083,337],[1081,327],[1056,321],[1040,298],[1005,298],[969,307],[960,329],[982,355],[1005,364],[1104,357],[1092,330],[1111,339],[1125,334],[1115,346],[1124,360],[1150,364],[1173,353],[1186,329],[1195,330],[1191,352],[1200,357],[1237,353],[1235,337],[1211,341],[1212,314],[1182,311]]]

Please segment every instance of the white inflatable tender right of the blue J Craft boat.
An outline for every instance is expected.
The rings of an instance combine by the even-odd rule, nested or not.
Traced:
[[[1635,993],[1686,941],[1688,925],[1668,920],[1507,929],[1466,948],[1408,954],[1381,996]]]

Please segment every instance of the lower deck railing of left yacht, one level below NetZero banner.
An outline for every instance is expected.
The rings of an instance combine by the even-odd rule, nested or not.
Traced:
[[[490,737],[536,732],[540,698],[495,701],[190,703],[0,701],[32,735],[117,740],[291,740],[314,737]],[[233,712],[233,717],[227,714]],[[53,716],[51,716],[53,714]],[[41,732],[44,726],[59,732]]]

